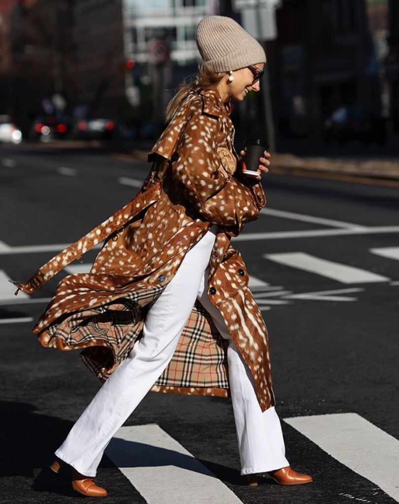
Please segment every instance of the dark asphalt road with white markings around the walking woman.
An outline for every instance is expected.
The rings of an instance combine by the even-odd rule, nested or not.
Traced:
[[[79,498],[68,474],[47,467],[99,388],[77,353],[44,349],[31,333],[67,272],[29,298],[15,298],[6,280],[26,281],[63,244],[130,201],[148,169],[127,157],[0,146],[2,502]],[[136,429],[141,436],[157,424],[165,439],[176,440],[220,482],[209,502],[229,500],[217,493],[227,488],[231,502],[248,504],[399,501],[399,190],[275,175],[272,169],[263,184],[266,210],[235,246],[269,330],[287,457],[314,482],[281,487],[265,476],[258,487],[248,487],[239,472],[228,399],[150,393],[124,429],[145,426]],[[87,254],[87,267],[94,257]],[[159,466],[170,464],[175,485],[169,488],[171,481],[161,479],[164,467],[157,467],[165,449],[147,453],[143,442],[147,463],[130,454],[117,468],[116,449],[122,446],[123,456],[128,443],[112,445],[101,462],[96,481],[109,491],[104,502],[166,504],[170,495],[182,504],[205,502],[185,480],[196,472],[188,469],[189,455],[174,459],[176,452],[162,451]],[[136,466],[139,480],[137,471],[132,476],[126,470]],[[178,497],[180,491],[185,496]]]

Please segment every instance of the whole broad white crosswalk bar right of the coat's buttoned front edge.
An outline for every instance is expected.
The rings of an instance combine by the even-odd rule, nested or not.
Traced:
[[[285,266],[291,266],[300,270],[309,271],[323,277],[331,278],[337,282],[352,283],[372,283],[387,282],[388,277],[377,275],[371,271],[361,270],[354,266],[334,263],[326,259],[320,259],[305,252],[289,252],[282,254],[263,254],[263,257]]]

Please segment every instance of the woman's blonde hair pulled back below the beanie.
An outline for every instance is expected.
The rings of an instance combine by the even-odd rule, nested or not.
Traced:
[[[165,112],[166,122],[169,122],[173,118],[181,103],[191,91],[213,89],[225,74],[226,72],[215,72],[206,62],[198,65],[198,73],[194,75],[195,79],[191,82],[187,82],[185,79],[181,89],[172,100],[169,101]],[[230,111],[230,106],[228,104],[225,104],[225,107],[227,111]]]

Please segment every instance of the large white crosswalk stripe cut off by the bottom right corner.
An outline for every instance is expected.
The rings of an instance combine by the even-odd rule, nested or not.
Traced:
[[[284,421],[399,501],[399,440],[356,413],[300,416]]]

